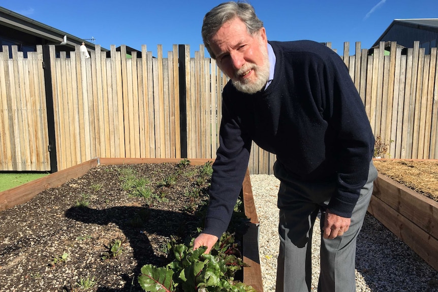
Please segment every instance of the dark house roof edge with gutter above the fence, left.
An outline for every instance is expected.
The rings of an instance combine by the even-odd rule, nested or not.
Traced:
[[[85,41],[71,34],[61,31],[44,23],[38,22],[21,14],[15,13],[6,8],[0,7],[0,25],[11,27],[13,29],[22,31],[23,33],[34,35],[54,44],[62,42],[64,36],[67,36],[66,46],[75,47],[84,42],[85,46],[94,51],[95,44]],[[101,48],[101,51],[108,51],[105,48]]]

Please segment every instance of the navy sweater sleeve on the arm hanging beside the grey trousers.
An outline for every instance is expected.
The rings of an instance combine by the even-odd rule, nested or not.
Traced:
[[[374,136],[363,102],[345,64],[336,55],[326,62],[326,67],[330,83],[326,94],[332,101],[329,124],[337,129],[334,149],[337,191],[328,208],[339,216],[351,217],[360,190],[368,178]]]

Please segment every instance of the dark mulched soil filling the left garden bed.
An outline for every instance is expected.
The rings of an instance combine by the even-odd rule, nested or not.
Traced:
[[[122,189],[127,168],[147,180],[153,199]],[[183,168],[176,175],[180,164],[98,166],[1,211],[0,292],[79,291],[80,279],[93,276],[97,284],[88,291],[142,291],[141,267],[166,265],[167,243],[190,240],[202,224],[195,210],[206,201],[209,180],[198,180],[202,166]],[[172,175],[175,183],[163,185]],[[202,189],[199,197],[194,189]],[[122,252],[102,259],[117,239]],[[54,264],[64,253],[67,261]]]

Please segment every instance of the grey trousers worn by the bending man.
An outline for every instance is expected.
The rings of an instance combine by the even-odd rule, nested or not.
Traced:
[[[368,167],[368,166],[365,166]],[[276,292],[310,291],[311,242],[315,220],[321,212],[321,230],[325,209],[335,191],[334,182],[307,183],[297,181],[276,162],[274,174],[280,180],[278,191],[280,250],[278,254]],[[347,232],[334,239],[321,235],[321,272],[318,291],[356,291],[356,239],[371,199],[377,170],[372,161],[368,181],[360,191]]]

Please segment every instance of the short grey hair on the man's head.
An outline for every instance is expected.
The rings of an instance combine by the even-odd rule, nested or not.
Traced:
[[[245,23],[249,35],[254,35],[263,27],[263,21],[257,17],[256,11],[251,4],[225,2],[214,7],[205,14],[201,32],[205,48],[213,59],[215,55],[210,48],[211,38],[225,22],[233,20],[235,17],[240,18]]]

